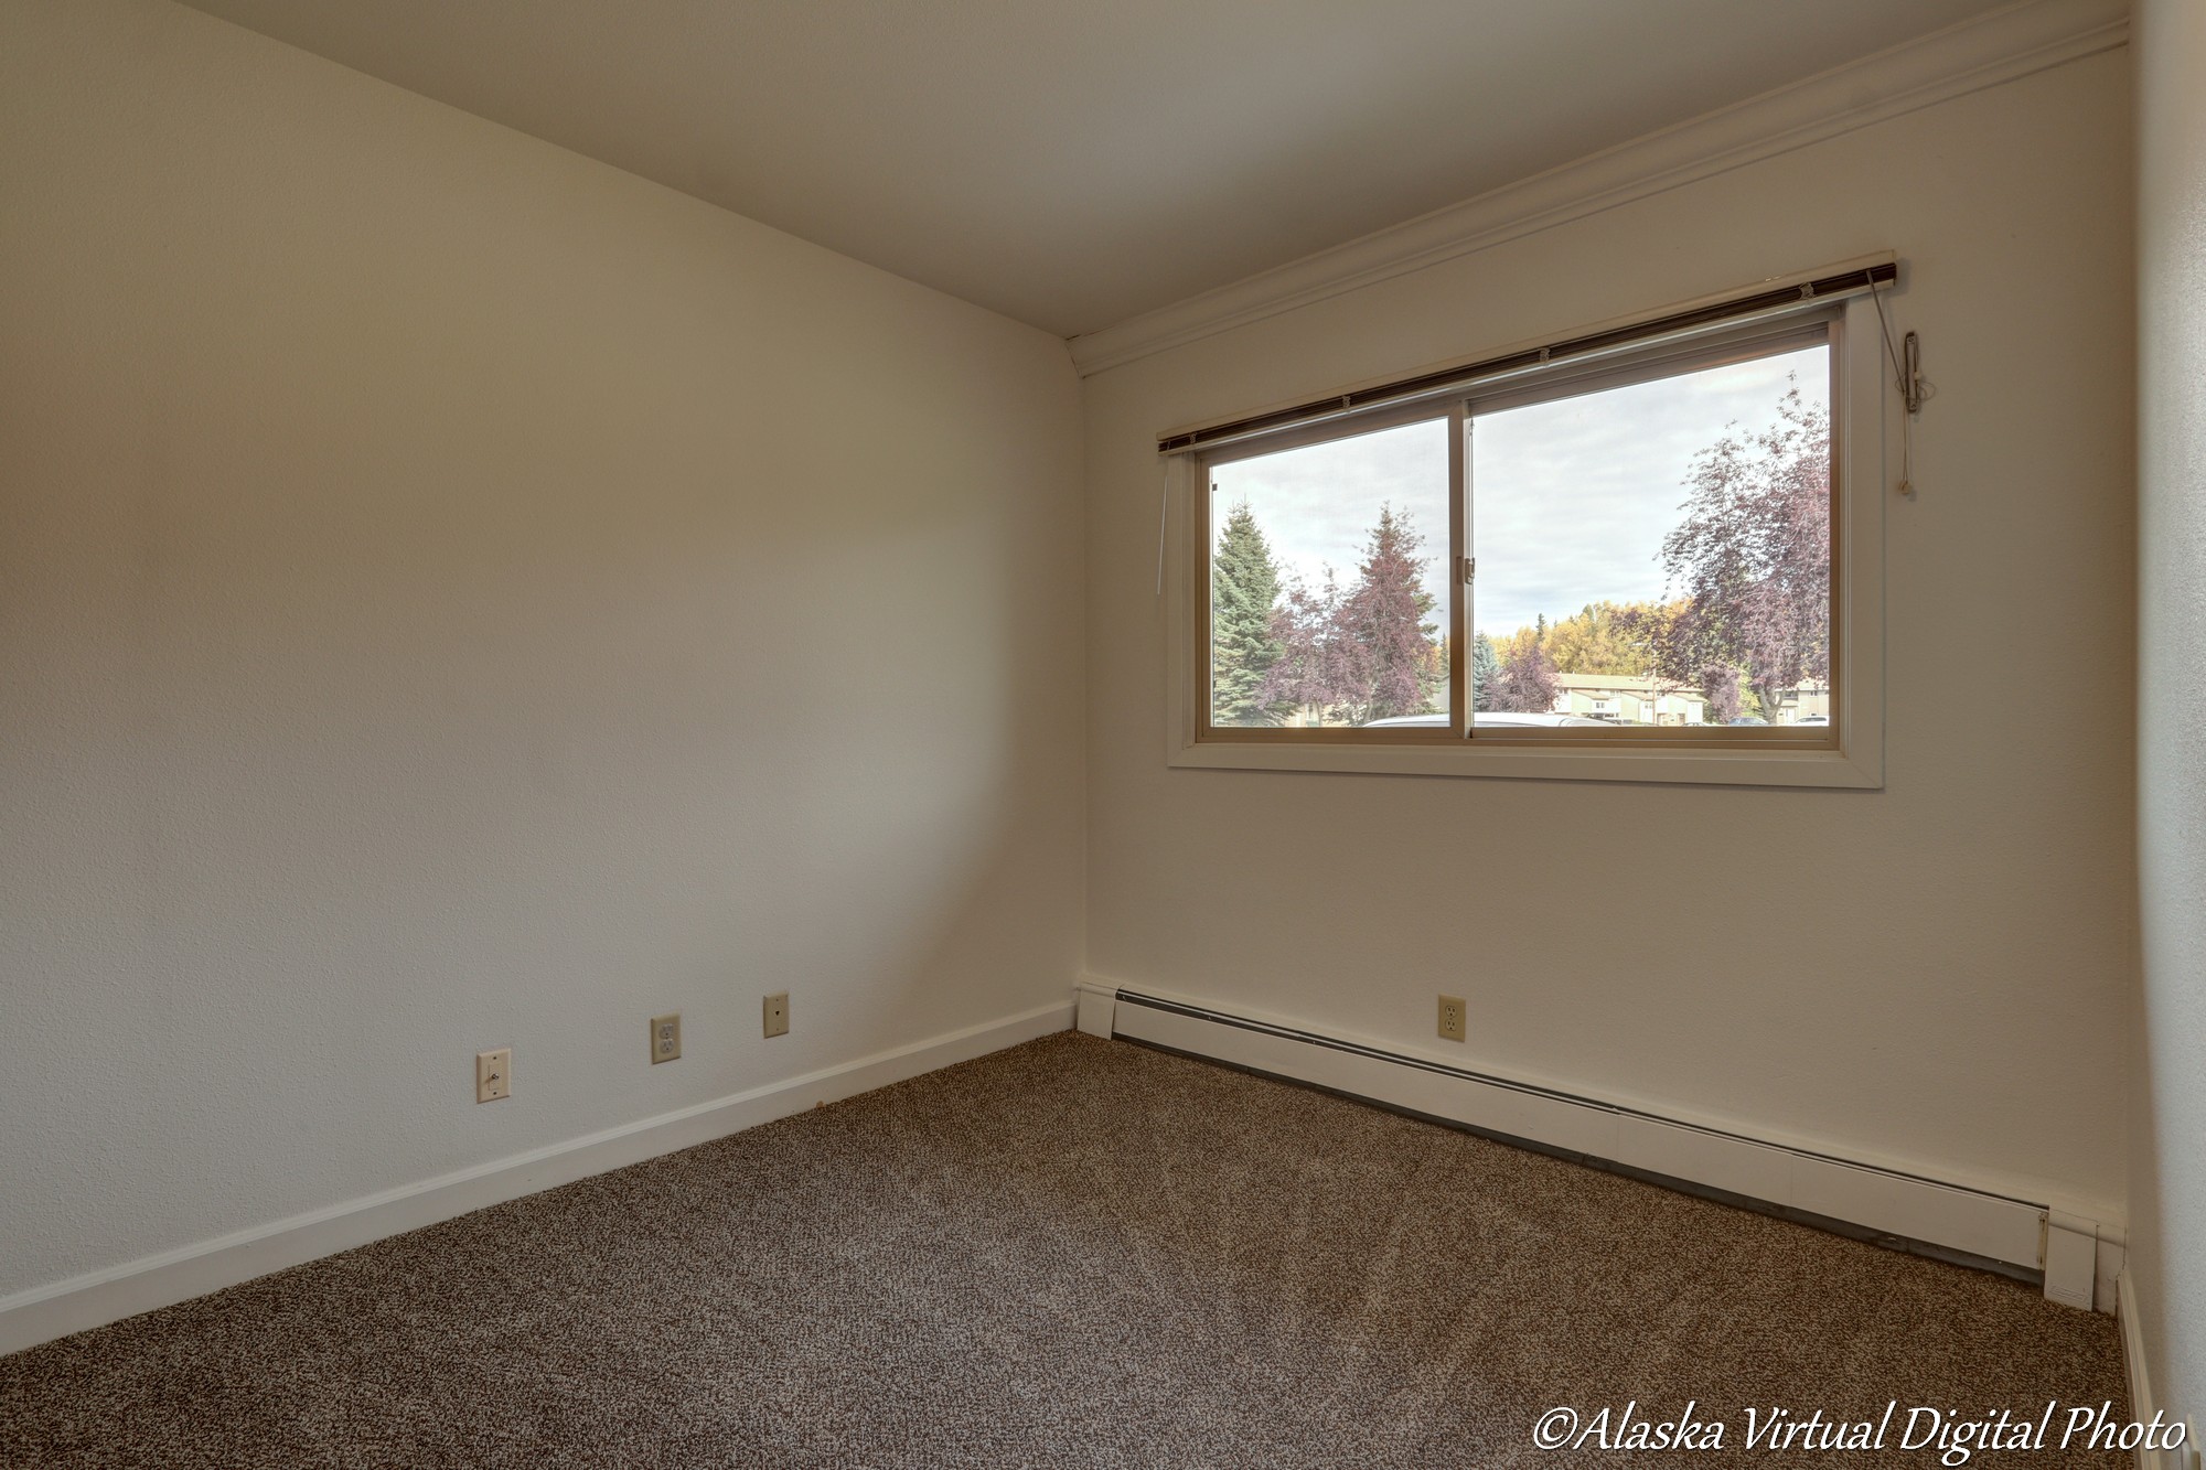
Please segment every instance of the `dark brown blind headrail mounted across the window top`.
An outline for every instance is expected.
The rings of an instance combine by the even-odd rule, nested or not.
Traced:
[[[1469,362],[1463,366],[1441,369],[1436,373],[1418,373],[1416,377],[1396,377],[1394,382],[1383,382],[1370,388],[1357,388],[1354,393],[1335,393],[1332,397],[1317,397],[1306,404],[1295,404],[1293,408],[1273,408],[1271,413],[1257,413],[1246,419],[1233,419],[1229,424],[1211,424],[1209,428],[1191,428],[1176,435],[1158,435],[1158,455],[1180,455],[1193,448],[1209,448],[1213,444],[1227,444],[1231,439],[1246,439],[1251,435],[1271,433],[1275,428],[1293,428],[1295,424],[1313,424],[1317,419],[1339,417],[1343,413],[1354,413],[1359,408],[1377,408],[1381,404],[1407,402],[1416,397],[1434,397],[1447,393],[1449,388],[1469,388],[1489,377],[1504,373],[1524,373],[1531,369],[1551,366],[1555,362],[1571,362],[1582,358],[1595,358],[1599,353],[1613,353],[1621,347],[1637,347],[1641,342],[1652,342],[1657,338],[1670,338],[1694,327],[1723,327],[1741,318],[1756,313],[1778,313],[1809,302],[1842,300],[1846,296],[1860,296],[1873,287],[1886,287],[1899,280],[1899,265],[1884,260],[1880,265],[1864,265],[1860,269],[1842,271],[1838,276],[1820,276],[1816,280],[1802,280],[1798,285],[1778,287],[1774,291],[1754,291],[1749,296],[1734,296],[1730,300],[1718,300],[1707,307],[1692,307],[1690,311],[1672,311],[1670,316],[1657,316],[1646,322],[1632,322],[1628,327],[1610,327],[1608,331],[1593,331],[1577,338],[1562,338],[1560,342],[1549,342],[1544,347],[1527,347],[1522,351],[1507,353],[1502,358],[1487,358],[1485,362]]]

